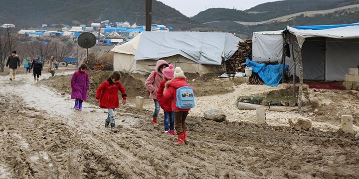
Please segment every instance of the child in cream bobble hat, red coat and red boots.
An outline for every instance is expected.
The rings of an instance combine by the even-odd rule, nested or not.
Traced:
[[[186,77],[183,74],[183,71],[180,67],[176,67],[174,78],[166,83],[166,88],[164,90],[164,97],[166,99],[173,99],[171,101],[172,110],[175,111],[175,128],[177,130],[178,141],[176,144],[184,144],[187,140],[187,125],[185,119],[188,115],[190,109],[180,109],[176,107],[177,101],[177,89],[180,87],[188,86],[186,82]],[[194,90],[193,87],[191,87]]]

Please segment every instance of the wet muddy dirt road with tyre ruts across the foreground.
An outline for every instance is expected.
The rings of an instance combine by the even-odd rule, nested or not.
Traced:
[[[0,77],[0,179],[359,178],[353,134],[216,123],[190,112],[188,145],[175,146],[133,99],[117,109],[111,131],[105,110],[85,102],[75,111],[68,93],[31,83],[29,74]]]

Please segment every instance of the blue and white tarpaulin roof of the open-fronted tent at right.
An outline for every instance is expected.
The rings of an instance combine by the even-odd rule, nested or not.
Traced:
[[[297,37],[302,47],[306,38],[328,37],[337,39],[359,38],[359,23],[342,25],[287,26],[286,30]]]

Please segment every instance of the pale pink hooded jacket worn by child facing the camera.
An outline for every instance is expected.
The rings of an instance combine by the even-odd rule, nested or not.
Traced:
[[[157,90],[160,87],[161,82],[163,81],[163,74],[159,71],[159,68],[162,65],[166,65],[167,67],[169,64],[164,60],[157,61],[156,70],[150,74],[150,76],[145,81],[146,88],[150,91],[150,97],[153,99],[157,99]],[[154,78],[154,74],[156,72],[156,77]]]

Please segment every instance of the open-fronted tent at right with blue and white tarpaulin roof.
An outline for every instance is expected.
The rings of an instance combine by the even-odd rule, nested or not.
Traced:
[[[304,79],[344,81],[349,68],[358,68],[359,23],[288,26],[286,32],[302,51]]]

